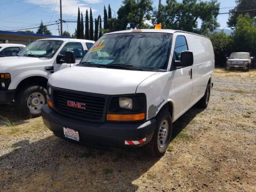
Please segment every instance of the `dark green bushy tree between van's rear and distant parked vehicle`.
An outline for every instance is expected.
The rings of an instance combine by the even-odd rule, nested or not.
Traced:
[[[214,53],[215,53],[215,64],[225,65],[226,57],[231,52],[232,38],[230,35],[226,35],[223,31],[221,33],[213,33],[209,35],[211,39]]]

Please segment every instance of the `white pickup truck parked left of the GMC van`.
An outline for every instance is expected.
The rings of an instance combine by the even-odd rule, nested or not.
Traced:
[[[0,102],[15,100],[24,116],[41,114],[49,76],[79,63],[93,44],[94,41],[84,39],[40,39],[30,43],[16,57],[1,58]],[[74,61],[66,61],[66,54],[70,52]]]

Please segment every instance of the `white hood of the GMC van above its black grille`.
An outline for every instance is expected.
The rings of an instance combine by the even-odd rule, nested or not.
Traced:
[[[49,83],[62,89],[98,93],[132,94],[153,71],[135,71],[95,67],[71,67],[54,73]]]

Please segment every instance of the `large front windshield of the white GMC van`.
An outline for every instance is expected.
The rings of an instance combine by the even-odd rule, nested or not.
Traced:
[[[122,33],[102,36],[81,61],[94,66],[129,66],[143,70],[166,70],[172,34]],[[126,69],[129,69],[128,67]]]

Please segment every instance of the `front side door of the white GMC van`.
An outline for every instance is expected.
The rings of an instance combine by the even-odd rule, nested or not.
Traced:
[[[173,63],[181,60],[181,52],[188,51],[188,44],[184,34],[174,34],[175,40]],[[191,68],[189,67],[174,67],[174,84],[175,84],[175,114],[174,118],[178,118],[186,110],[191,107],[191,94],[193,90],[193,81],[191,79]],[[176,116],[176,117],[175,117]]]

